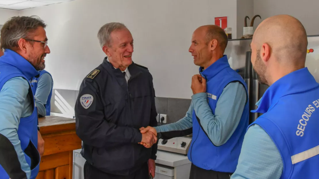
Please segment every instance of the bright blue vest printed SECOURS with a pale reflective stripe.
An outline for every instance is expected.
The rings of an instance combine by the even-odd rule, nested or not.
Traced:
[[[260,125],[279,150],[284,164],[280,178],[318,178],[319,84],[308,68],[274,82],[252,112],[263,113],[251,125]]]

